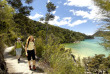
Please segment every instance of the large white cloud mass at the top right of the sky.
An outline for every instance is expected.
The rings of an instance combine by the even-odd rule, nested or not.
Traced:
[[[64,3],[64,5],[76,6],[76,7],[86,7],[89,9],[89,11],[70,10],[70,12],[72,12],[73,15],[76,15],[76,16],[81,16],[83,18],[96,20],[96,21],[99,21],[100,19],[104,18],[99,13],[99,8],[94,5],[94,2],[92,0],[67,0],[67,2]]]

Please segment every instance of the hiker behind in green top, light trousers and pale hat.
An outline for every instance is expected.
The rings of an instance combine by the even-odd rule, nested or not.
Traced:
[[[17,38],[17,41],[15,42],[15,51],[16,51],[16,58],[18,59],[18,63],[20,63],[22,47],[24,48],[21,38]]]

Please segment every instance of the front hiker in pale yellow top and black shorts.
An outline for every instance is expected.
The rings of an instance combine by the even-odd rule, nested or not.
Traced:
[[[26,46],[25,46],[25,52],[26,52],[26,56],[28,59],[28,63],[29,63],[29,69],[31,70],[31,57],[33,59],[33,70],[36,70],[35,64],[35,54],[36,54],[36,48],[35,48],[35,44],[34,44],[34,37],[33,36],[29,36],[26,42]]]

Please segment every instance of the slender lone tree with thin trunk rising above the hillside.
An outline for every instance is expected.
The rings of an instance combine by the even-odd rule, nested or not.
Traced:
[[[47,26],[46,26],[46,28],[47,28],[47,31],[46,31],[46,44],[47,44],[48,43],[48,22],[50,20],[54,19],[54,15],[51,14],[51,12],[56,9],[56,6],[52,2],[49,2],[49,3],[47,3],[46,8],[47,8],[48,13],[45,15],[45,17],[40,18],[40,21],[45,21],[45,24],[47,24]]]

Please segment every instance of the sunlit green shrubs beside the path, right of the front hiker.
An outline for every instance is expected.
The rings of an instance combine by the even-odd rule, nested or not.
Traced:
[[[38,37],[36,50],[36,55],[41,57],[41,61],[52,68],[52,70],[47,68],[48,74],[84,74],[84,68],[81,65],[75,65],[71,53],[65,51],[53,34],[49,35],[48,44],[45,44],[42,37]]]

